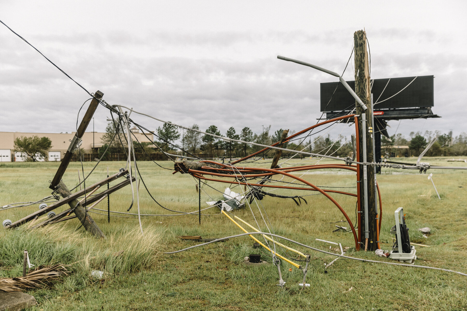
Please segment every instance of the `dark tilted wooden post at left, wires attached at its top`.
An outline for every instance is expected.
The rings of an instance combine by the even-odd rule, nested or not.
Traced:
[[[74,149],[78,146],[79,148],[79,140],[83,137],[86,127],[88,126],[89,122],[91,122],[92,115],[94,114],[94,111],[96,111],[97,106],[99,105],[99,100],[104,96],[102,92],[99,90],[96,91],[94,94],[94,98],[92,98],[91,104],[89,104],[89,107],[85,113],[85,116],[81,120],[81,123],[79,124],[78,130],[76,131],[75,137],[71,139],[71,144],[70,147],[68,147],[67,152],[65,153],[62,162],[60,163],[60,166],[58,167],[57,173],[55,173],[54,179],[50,183],[49,188],[52,190],[55,190],[58,186],[58,183],[63,177],[63,174],[65,173],[66,168],[68,167],[68,164],[70,164],[71,158],[73,157],[74,154]]]

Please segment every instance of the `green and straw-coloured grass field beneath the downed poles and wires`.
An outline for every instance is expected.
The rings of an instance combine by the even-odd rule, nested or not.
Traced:
[[[404,159],[415,162],[413,159]],[[424,158],[425,162],[439,166],[467,166],[463,162]],[[299,160],[293,161],[298,163]],[[305,163],[306,160],[303,162]],[[138,162],[142,177],[153,196],[163,206],[179,211],[198,210],[196,182],[190,175],[164,170],[152,162]],[[320,163],[335,163],[323,160]],[[85,172],[95,163],[85,162]],[[172,168],[171,162],[160,162]],[[86,185],[116,173],[124,162],[101,163]],[[267,166],[267,164],[265,164]],[[53,178],[58,163],[1,163],[0,206],[22,201],[39,200],[50,195],[48,181]],[[71,163],[64,175],[64,183],[72,188],[78,184],[80,163]],[[430,170],[441,200],[438,199],[427,174],[415,170],[383,169],[378,176],[382,191],[383,215],[380,240],[383,249],[392,245],[389,229],[394,225],[394,211],[403,207],[410,228],[412,242],[430,245],[416,247],[418,265],[439,267],[467,273],[467,172],[461,170]],[[297,175],[318,186],[354,187],[353,172],[332,170],[298,172]],[[287,179],[284,179],[287,180]],[[111,184],[114,185],[118,181]],[[208,182],[223,192],[228,184]],[[233,187],[234,185],[232,185]],[[206,201],[219,200],[221,194],[203,186],[202,207]],[[239,192],[239,186],[233,188]],[[269,189],[266,189],[269,190]],[[344,191],[354,192],[355,188]],[[276,194],[315,194],[297,190],[278,190]],[[355,198],[332,194],[349,217],[355,219]],[[352,233],[333,232],[332,222],[344,219],[340,211],[322,195],[305,197],[308,204],[297,206],[293,200],[266,197],[259,205],[267,212],[272,229],[278,235],[304,244],[329,250],[329,244],[315,238],[342,243],[349,247],[348,256],[390,262],[373,252],[356,252]],[[111,210],[126,212],[131,203],[129,186],[110,196]],[[97,208],[106,209],[106,200]],[[172,214],[159,207],[140,185],[142,214]],[[60,207],[56,211],[62,211]],[[37,210],[30,207],[0,210],[0,220],[16,221]],[[258,207],[251,210],[261,220]],[[311,250],[287,246],[311,254],[307,283],[311,287],[300,291],[302,272],[289,263],[282,263],[285,289],[278,283],[277,269],[272,264],[250,267],[243,258],[257,253],[248,236],[216,242],[174,255],[164,251],[182,249],[198,242],[180,240],[180,235],[201,235],[218,238],[243,233],[214,208],[205,210],[209,216],[151,216],[142,217],[145,232],[139,232],[138,218],[117,217],[112,214],[107,222],[106,212],[91,214],[106,234],[106,240],[96,240],[77,219],[55,226],[28,230],[0,232],[0,276],[20,276],[22,250],[28,249],[35,265],[61,262],[73,264],[74,273],[53,287],[29,291],[39,304],[30,310],[465,310],[467,308],[467,276],[452,272],[401,267],[380,263],[362,263],[339,259],[327,268],[335,257]],[[131,209],[137,212],[136,203]],[[255,224],[250,207],[234,210],[233,214]],[[126,215],[133,216],[133,215]],[[44,216],[42,216],[43,218]],[[41,220],[40,218],[39,220]],[[261,220],[262,221],[262,220]],[[258,221],[260,222],[260,221]],[[347,226],[345,222],[337,223]],[[260,222],[261,225],[261,222]],[[428,238],[417,228],[430,227]],[[78,230],[77,230],[78,229]],[[267,228],[263,225],[263,231]],[[112,254],[124,250],[124,255]],[[281,253],[282,250],[278,250]],[[263,259],[271,261],[263,250]],[[337,252],[337,251],[336,251]],[[292,253],[290,253],[292,254]],[[289,268],[293,268],[289,271]],[[105,281],[91,277],[92,270],[103,270]],[[349,289],[352,290],[349,291]]]

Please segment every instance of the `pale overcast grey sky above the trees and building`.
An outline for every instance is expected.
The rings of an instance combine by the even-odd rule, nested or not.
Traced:
[[[0,0],[4,23],[107,103],[222,133],[315,124],[319,83],[338,80],[276,56],[342,73],[363,28],[372,78],[435,76],[442,117],[402,120],[397,132],[467,131],[466,13],[466,1]],[[3,25],[0,42],[0,131],[74,131],[89,96]],[[99,107],[96,131],[106,117]],[[390,135],[398,124],[389,122]]]

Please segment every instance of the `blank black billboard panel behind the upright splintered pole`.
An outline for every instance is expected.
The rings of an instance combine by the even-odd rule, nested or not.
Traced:
[[[402,90],[414,78],[414,76],[391,78],[389,83],[389,79],[375,79],[371,89],[373,100],[376,102],[379,97],[378,101],[382,102],[386,98],[391,97]],[[347,81],[347,83],[353,90],[355,90],[355,81]],[[333,95],[337,84],[338,82],[321,83],[321,111],[350,110],[355,107],[354,97],[350,95],[342,83],[339,83],[339,86]],[[386,89],[384,89],[384,87],[386,87]],[[383,90],[384,92],[382,93]],[[332,99],[331,102],[329,102],[331,96]],[[402,92],[380,104],[377,104],[375,106],[375,110],[385,108],[433,107],[433,103],[433,76],[418,76]]]

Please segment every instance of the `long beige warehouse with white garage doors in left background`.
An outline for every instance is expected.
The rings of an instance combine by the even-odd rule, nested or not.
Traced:
[[[140,142],[151,142],[153,138],[152,133],[146,133],[146,136],[139,131],[138,128],[134,127],[130,131],[138,138]],[[47,159],[41,159],[42,161],[60,161],[63,159],[65,152],[70,146],[71,138],[75,136],[76,132],[71,133],[25,133],[25,132],[0,132],[0,162],[21,162],[25,160],[24,155],[21,152],[14,152],[14,140],[21,136],[24,137],[48,137],[52,141],[52,147],[49,150]],[[104,145],[101,143],[101,138],[105,133],[102,132],[85,132],[83,135],[83,143],[81,148],[86,153],[98,152],[99,148]]]

